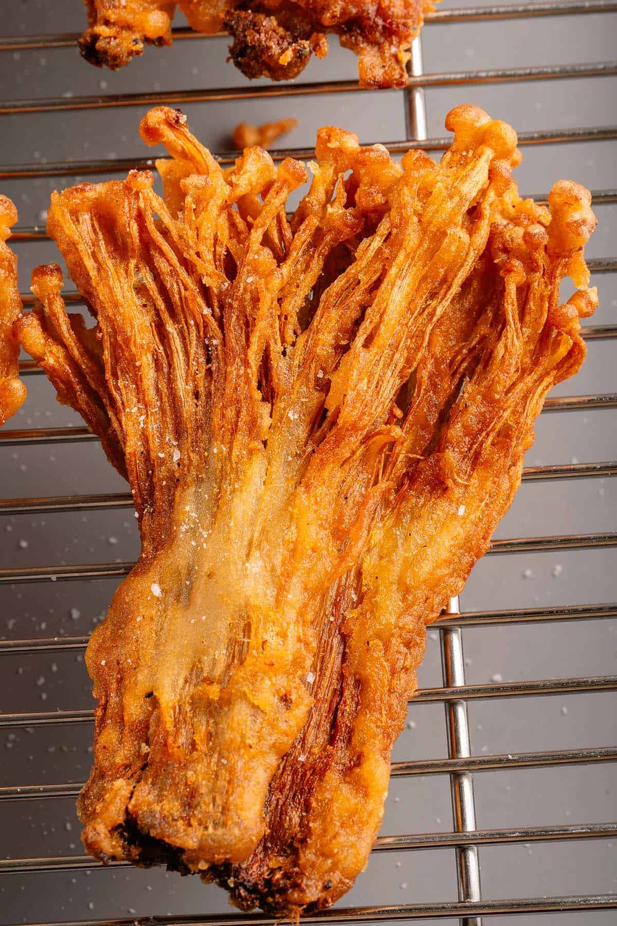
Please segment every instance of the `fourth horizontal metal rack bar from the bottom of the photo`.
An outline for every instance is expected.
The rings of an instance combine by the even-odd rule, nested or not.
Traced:
[[[449,612],[455,614],[456,612]],[[444,633],[456,635],[456,629],[444,630]],[[82,646],[83,644],[81,644]],[[73,647],[77,648],[77,647]],[[453,677],[453,676],[452,676]],[[443,688],[420,688],[413,695],[410,704],[430,704],[443,701],[447,706],[456,707],[458,702],[469,700],[487,700],[489,698],[537,697],[547,694],[589,694],[591,692],[617,691],[617,675],[597,675],[582,679],[542,679],[537,682],[500,682],[499,684],[455,686],[444,682]],[[46,727],[63,724],[89,723],[94,720],[94,712],[85,710],[31,711],[21,714],[0,714],[0,730],[8,727]]]

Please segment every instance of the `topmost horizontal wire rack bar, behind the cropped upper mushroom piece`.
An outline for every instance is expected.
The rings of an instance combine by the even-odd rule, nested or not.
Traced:
[[[553,16],[584,16],[589,13],[614,13],[614,0],[583,0],[583,2],[556,2],[538,4],[502,4],[499,6],[471,6],[469,9],[443,9],[426,13],[426,25],[450,25],[452,22],[482,22],[503,19],[539,19]],[[174,29],[174,42],[186,39],[204,40],[224,36],[225,32],[204,35],[191,29]],[[31,51],[49,48],[72,48],[80,39],[80,32],[53,32],[43,35],[6,35],[0,37],[0,52]]]

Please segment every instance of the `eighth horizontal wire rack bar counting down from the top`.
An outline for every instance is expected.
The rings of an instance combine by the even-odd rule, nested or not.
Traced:
[[[606,463],[561,463],[555,466],[525,467],[523,470],[523,482],[551,482],[562,479],[606,479],[611,476],[617,476],[617,460]],[[133,507],[133,498],[130,492],[0,499],[0,515],[110,511],[130,507]]]

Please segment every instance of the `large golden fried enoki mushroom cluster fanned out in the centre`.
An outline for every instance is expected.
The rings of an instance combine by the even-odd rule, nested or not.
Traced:
[[[509,507],[544,396],[585,357],[590,196],[521,200],[510,126],[452,110],[394,163],[318,132],[313,179],[171,155],[56,193],[22,344],[126,474],[142,554],[93,632],[93,856],[167,863],[277,916],[328,907],[383,815],[426,624]],[[560,305],[560,284],[577,287]]]

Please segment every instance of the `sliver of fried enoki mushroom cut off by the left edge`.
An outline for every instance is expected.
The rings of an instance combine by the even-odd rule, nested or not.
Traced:
[[[18,258],[6,244],[17,220],[18,210],[7,196],[0,195],[0,425],[26,399],[26,387],[19,379],[19,341],[14,331],[21,314]]]

